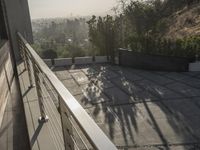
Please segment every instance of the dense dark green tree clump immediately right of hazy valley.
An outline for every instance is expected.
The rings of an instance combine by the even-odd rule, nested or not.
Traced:
[[[113,56],[117,46],[116,20],[110,15],[103,18],[92,16],[87,23],[90,42],[95,46],[95,55]]]

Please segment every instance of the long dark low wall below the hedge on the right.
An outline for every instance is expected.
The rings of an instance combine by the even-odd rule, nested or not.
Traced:
[[[179,57],[145,55],[120,49],[119,65],[147,70],[188,71],[189,60]]]

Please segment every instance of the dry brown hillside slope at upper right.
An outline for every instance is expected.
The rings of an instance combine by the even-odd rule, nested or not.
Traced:
[[[175,12],[163,22],[167,28],[163,37],[170,39],[183,38],[191,35],[200,35],[200,4],[184,7],[182,10]]]

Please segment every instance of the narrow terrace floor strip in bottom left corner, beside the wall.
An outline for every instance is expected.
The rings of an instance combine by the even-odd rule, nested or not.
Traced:
[[[23,102],[16,82],[13,78],[10,92],[7,93],[7,106],[0,127],[0,150],[30,149]]]

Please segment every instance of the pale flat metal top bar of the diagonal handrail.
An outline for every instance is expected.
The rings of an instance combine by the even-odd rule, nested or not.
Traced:
[[[39,67],[41,72],[46,76],[53,88],[56,90],[60,98],[64,101],[64,104],[70,111],[77,124],[82,129],[85,136],[91,142],[95,149],[99,150],[117,150],[116,146],[110,141],[105,133],[99,128],[94,120],[88,115],[84,108],[78,103],[78,101],[71,95],[71,93],[65,88],[63,83],[56,77],[56,75],[48,68],[40,56],[30,46],[30,44],[23,38],[18,32],[17,35],[25,44],[28,53],[31,55],[34,63]]]

